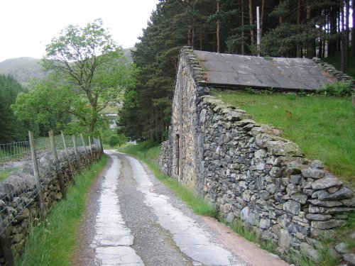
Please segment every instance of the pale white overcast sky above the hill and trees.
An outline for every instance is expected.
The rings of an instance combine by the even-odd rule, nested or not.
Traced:
[[[123,48],[143,34],[158,0],[0,0],[0,62],[41,58],[45,45],[66,26],[84,27],[102,18]]]

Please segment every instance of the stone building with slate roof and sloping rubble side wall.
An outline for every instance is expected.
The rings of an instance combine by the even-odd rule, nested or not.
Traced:
[[[291,252],[303,252],[319,260],[319,240],[334,234],[354,211],[353,192],[324,170],[322,162],[307,160],[278,129],[227,106],[210,95],[210,88],[307,91],[337,79],[351,78],[320,60],[183,48],[161,169],[204,194],[227,221],[240,218],[262,239],[271,240],[285,259]]]

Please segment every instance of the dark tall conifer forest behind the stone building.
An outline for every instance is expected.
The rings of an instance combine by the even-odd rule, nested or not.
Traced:
[[[261,56],[324,58],[341,52],[342,71],[355,56],[354,0],[160,0],[133,51],[139,72],[136,87],[124,94],[121,132],[165,140],[182,46],[256,55],[256,6]]]

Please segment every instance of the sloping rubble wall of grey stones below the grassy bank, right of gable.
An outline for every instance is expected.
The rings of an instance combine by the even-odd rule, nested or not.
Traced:
[[[354,211],[351,189],[322,162],[303,157],[279,130],[212,96],[202,98],[206,198],[226,221],[241,218],[272,240],[283,257],[304,252],[318,260],[320,238],[332,237]]]

